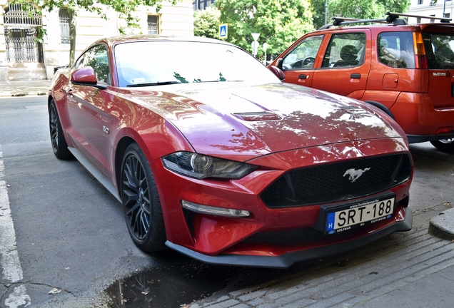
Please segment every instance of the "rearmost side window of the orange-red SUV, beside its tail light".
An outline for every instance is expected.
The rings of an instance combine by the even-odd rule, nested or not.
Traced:
[[[415,68],[413,34],[383,32],[378,35],[378,61],[392,68]]]

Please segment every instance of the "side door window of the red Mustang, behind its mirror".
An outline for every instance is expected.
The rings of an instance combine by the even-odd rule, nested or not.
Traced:
[[[76,69],[91,66],[99,83],[111,84],[109,58],[104,45],[96,45],[82,55],[76,63]]]

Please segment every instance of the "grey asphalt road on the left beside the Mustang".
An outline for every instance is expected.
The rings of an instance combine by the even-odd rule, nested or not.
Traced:
[[[76,160],[55,158],[46,97],[0,99],[0,132],[20,260],[4,257],[1,267],[22,273],[0,278],[0,307],[14,307],[5,300],[19,286],[26,292],[17,300],[31,307],[88,307],[119,277],[158,265],[133,245],[118,201]]]

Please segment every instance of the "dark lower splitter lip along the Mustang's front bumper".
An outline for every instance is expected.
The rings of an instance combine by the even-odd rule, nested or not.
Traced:
[[[257,256],[257,255],[217,255],[209,256],[189,250],[180,245],[173,244],[167,241],[166,245],[177,252],[201,262],[210,263],[213,265],[231,265],[240,267],[268,267],[285,269],[291,267],[296,262],[312,260],[316,258],[328,257],[330,255],[339,254],[348,250],[354,250],[358,247],[368,245],[382,237],[390,235],[394,232],[402,232],[411,230],[413,225],[413,213],[409,207],[405,207],[405,219],[400,222],[395,222],[388,227],[384,227],[370,235],[365,235],[355,240],[348,242],[340,242],[338,244],[316,247],[308,250],[300,250],[296,252],[288,252],[276,257]]]

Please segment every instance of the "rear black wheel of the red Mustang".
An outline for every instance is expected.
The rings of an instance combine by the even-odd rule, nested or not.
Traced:
[[[51,101],[49,106],[49,130],[51,133],[52,150],[54,150],[56,157],[60,159],[71,158],[72,154],[66,144],[54,100]]]

